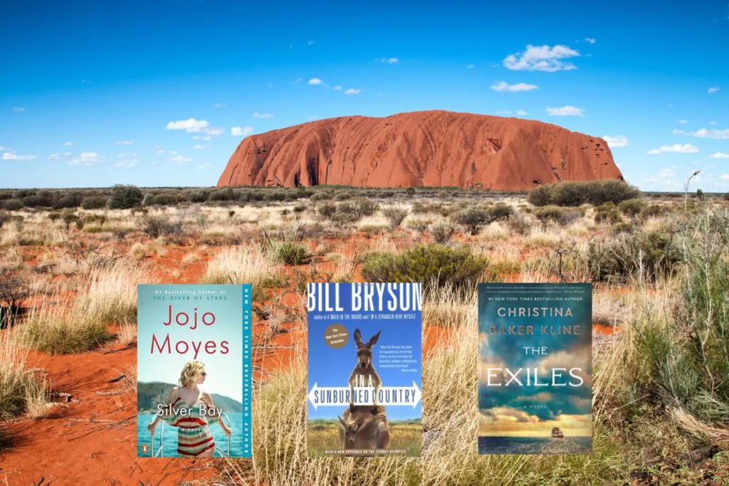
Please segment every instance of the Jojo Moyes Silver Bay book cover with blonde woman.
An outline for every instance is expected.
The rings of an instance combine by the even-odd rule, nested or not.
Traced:
[[[137,455],[252,455],[250,285],[137,287]]]

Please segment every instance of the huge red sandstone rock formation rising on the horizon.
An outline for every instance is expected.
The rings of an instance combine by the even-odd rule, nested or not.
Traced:
[[[602,138],[529,119],[439,110],[321,119],[248,136],[217,186],[523,190],[590,179],[623,179]]]

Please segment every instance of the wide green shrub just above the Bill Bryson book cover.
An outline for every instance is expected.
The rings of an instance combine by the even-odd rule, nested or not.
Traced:
[[[483,256],[472,254],[467,247],[418,245],[400,254],[364,255],[362,278],[366,282],[421,282],[425,289],[466,289],[481,280],[487,266]]]

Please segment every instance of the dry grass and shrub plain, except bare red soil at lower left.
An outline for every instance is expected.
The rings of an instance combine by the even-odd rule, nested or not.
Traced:
[[[729,209],[618,181],[458,188],[1,191],[0,420],[52,387],[28,353],[133,345],[137,283],[252,283],[254,458],[218,482],[729,481]],[[164,262],[172,259],[172,264]],[[421,458],[306,457],[305,283],[424,283]],[[477,455],[480,281],[593,283],[591,456]],[[263,361],[267,362],[267,361]],[[0,443],[2,443],[0,436]],[[723,481],[723,483],[722,483]]]

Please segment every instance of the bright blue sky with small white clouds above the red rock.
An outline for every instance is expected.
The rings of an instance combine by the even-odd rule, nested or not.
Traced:
[[[729,191],[725,1],[569,3],[4,1],[0,187],[213,185],[249,133],[448,109]]]

